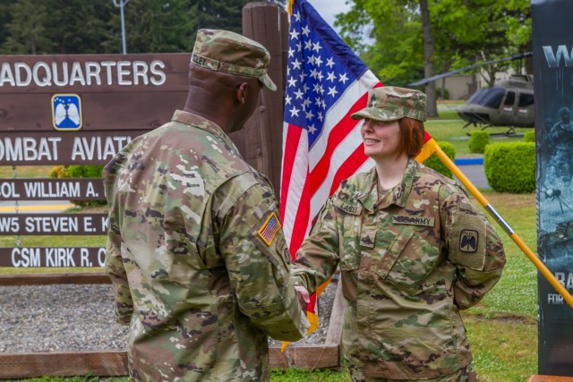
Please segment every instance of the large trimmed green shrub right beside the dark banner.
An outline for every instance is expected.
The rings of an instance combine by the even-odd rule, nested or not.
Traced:
[[[496,143],[485,148],[483,170],[498,192],[535,191],[535,143]]]

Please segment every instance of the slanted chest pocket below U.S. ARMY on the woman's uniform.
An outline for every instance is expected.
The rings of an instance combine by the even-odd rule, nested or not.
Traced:
[[[415,295],[439,261],[438,247],[403,226],[390,243],[375,273],[399,290]]]

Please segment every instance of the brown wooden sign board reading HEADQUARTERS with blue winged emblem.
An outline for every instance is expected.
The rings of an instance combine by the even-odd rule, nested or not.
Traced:
[[[190,56],[2,55],[0,132],[154,129],[184,107]]]

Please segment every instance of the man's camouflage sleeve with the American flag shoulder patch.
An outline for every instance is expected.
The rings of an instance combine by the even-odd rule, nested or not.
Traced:
[[[253,325],[282,341],[309,327],[290,282],[290,252],[269,186],[255,183],[222,217],[219,250],[239,309]]]

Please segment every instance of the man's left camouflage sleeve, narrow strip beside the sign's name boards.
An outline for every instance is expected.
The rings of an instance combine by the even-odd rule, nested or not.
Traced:
[[[129,325],[133,313],[132,293],[129,289],[127,273],[122,260],[122,239],[115,213],[114,180],[109,174],[105,174],[104,186],[106,188],[107,206],[109,207],[105,270],[111,279],[114,291],[115,321],[121,325]]]

